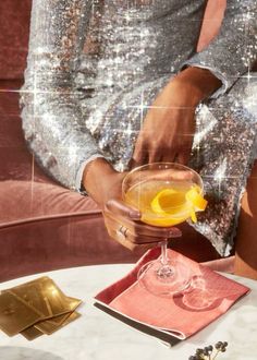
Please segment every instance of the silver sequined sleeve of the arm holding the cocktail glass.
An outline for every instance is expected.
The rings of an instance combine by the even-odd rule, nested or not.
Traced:
[[[71,189],[75,189],[81,164],[100,155],[82,127],[74,87],[90,5],[89,0],[34,0],[21,91],[23,129],[29,147],[45,170]]]

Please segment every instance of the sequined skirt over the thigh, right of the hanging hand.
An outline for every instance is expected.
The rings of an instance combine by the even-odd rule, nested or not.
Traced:
[[[256,157],[257,77],[241,77],[197,112],[191,165],[204,178],[208,207],[195,228],[221,255],[234,247],[241,196]]]

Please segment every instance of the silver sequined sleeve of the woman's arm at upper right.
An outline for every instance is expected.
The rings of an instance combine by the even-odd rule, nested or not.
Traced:
[[[224,19],[218,36],[203,51],[183,65],[208,69],[223,86],[223,94],[254,65],[257,59],[257,1],[227,0]]]

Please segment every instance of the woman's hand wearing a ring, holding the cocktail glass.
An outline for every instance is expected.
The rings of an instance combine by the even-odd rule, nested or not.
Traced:
[[[130,250],[145,251],[167,238],[180,237],[176,228],[158,228],[140,221],[140,213],[122,201],[125,172],[117,172],[102,158],[89,163],[83,183],[102,209],[108,233]]]

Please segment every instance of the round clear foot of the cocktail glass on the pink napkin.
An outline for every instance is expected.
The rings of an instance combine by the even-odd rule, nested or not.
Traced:
[[[163,265],[160,260],[155,260],[142,266],[137,279],[149,292],[169,297],[183,292],[191,286],[191,271],[179,261],[168,260]]]

